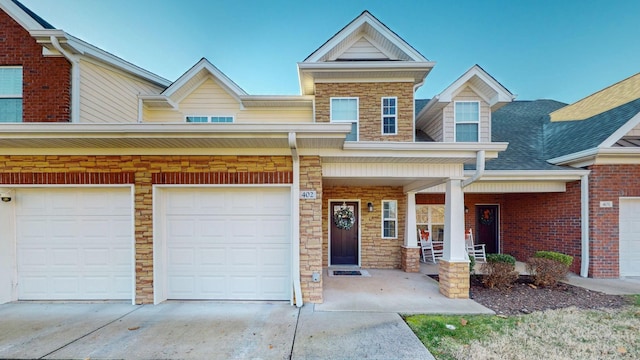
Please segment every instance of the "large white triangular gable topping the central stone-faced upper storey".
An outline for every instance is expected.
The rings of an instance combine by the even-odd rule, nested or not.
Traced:
[[[310,95],[320,81],[402,79],[421,85],[434,65],[364,11],[299,62],[298,75],[301,93]]]

